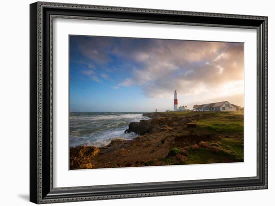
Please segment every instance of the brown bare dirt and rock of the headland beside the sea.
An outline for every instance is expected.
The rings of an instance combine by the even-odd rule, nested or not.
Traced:
[[[192,116],[151,113],[144,116],[149,116],[151,119],[135,124],[133,128],[145,131],[144,124],[147,124],[146,133],[132,140],[117,138],[104,147],[70,148],[70,169],[169,165],[171,159],[173,164],[184,164],[188,148],[206,148],[208,141],[220,139],[220,136],[214,134],[192,133],[194,125],[187,127],[187,123],[204,118],[200,113]],[[181,151],[170,157],[168,154],[172,148],[181,148]],[[218,152],[218,148],[212,150]]]

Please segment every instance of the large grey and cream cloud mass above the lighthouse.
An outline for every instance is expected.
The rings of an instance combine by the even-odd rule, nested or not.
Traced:
[[[120,83],[141,86],[147,97],[169,96],[174,89],[185,95],[206,92],[243,80],[242,44],[158,41],[147,54],[149,60]]]

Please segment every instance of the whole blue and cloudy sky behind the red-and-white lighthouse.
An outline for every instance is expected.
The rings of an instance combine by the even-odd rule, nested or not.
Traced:
[[[69,36],[70,112],[243,106],[243,43]]]

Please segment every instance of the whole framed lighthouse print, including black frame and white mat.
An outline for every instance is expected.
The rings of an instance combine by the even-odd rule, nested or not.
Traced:
[[[267,188],[267,17],[30,5],[30,201]]]

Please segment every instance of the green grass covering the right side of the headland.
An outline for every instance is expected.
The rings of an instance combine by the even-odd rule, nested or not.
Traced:
[[[166,164],[203,164],[243,161],[243,112],[168,112],[166,114],[194,116],[200,115],[198,120],[190,123],[195,127],[187,127],[189,135],[216,136],[216,140],[189,145],[188,155],[184,155],[184,162],[176,162],[175,155],[183,155],[182,148],[172,147],[167,157],[159,160]]]

